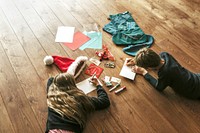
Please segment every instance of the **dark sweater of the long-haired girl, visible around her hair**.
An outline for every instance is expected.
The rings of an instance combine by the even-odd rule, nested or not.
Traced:
[[[49,86],[53,82],[53,78],[50,78],[47,82],[47,91]],[[105,109],[110,105],[110,100],[106,91],[102,88],[102,86],[97,86],[97,97],[90,97],[92,103],[95,107],[95,110]],[[60,114],[55,112],[53,109],[48,107],[48,118],[46,123],[46,132],[48,133],[51,129],[62,129],[73,131],[75,133],[81,133],[83,129],[77,122],[74,122],[67,117],[62,117]]]

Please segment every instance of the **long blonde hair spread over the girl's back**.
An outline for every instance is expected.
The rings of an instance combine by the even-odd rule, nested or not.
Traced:
[[[90,98],[76,87],[70,74],[57,75],[49,87],[47,105],[62,117],[67,117],[84,128],[87,114],[94,111]]]

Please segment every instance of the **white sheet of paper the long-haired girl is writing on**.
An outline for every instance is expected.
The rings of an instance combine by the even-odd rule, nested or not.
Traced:
[[[89,82],[90,78],[87,78],[79,83],[76,86],[82,90],[85,94],[88,94],[96,89],[96,87]]]

